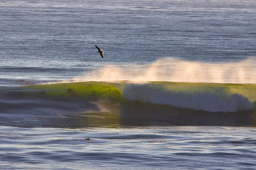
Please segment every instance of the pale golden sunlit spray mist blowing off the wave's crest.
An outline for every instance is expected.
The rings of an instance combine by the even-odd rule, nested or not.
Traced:
[[[104,68],[76,77],[74,80],[256,83],[256,59],[211,63],[165,57],[150,65],[106,65]]]

